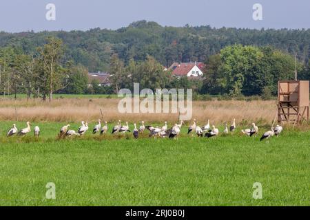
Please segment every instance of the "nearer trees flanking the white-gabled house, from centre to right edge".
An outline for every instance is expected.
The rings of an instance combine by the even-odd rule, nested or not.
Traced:
[[[195,94],[270,97],[277,94],[278,80],[294,80],[296,71],[298,80],[310,79],[310,71],[302,62],[271,46],[227,46],[205,60],[202,78],[172,76],[152,56],[124,65],[114,54],[110,62],[116,91],[140,83],[140,87],[153,90],[184,88],[193,89]]]

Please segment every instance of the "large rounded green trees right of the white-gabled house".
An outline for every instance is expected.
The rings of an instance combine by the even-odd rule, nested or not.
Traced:
[[[309,80],[310,72],[300,61],[271,46],[231,45],[205,62],[203,94],[228,96],[275,96],[278,80]]]

